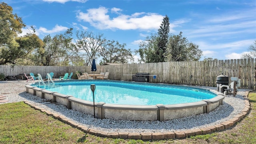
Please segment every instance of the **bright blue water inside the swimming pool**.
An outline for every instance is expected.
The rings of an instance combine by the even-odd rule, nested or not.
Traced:
[[[93,101],[90,85],[95,84],[95,102],[128,105],[180,104],[198,102],[216,96],[212,92],[164,84],[148,84],[111,80],[68,80],[56,82],[56,87],[46,90],[72,95],[82,100]],[[38,86],[38,84],[34,84]]]

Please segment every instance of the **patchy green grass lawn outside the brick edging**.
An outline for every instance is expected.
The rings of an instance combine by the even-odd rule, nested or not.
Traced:
[[[23,102],[0,104],[0,144],[256,144],[256,93],[251,112],[228,130],[182,140],[126,140],[86,134]]]

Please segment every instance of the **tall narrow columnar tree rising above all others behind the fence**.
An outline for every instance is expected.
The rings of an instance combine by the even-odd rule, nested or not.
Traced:
[[[168,16],[166,15],[163,18],[160,28],[158,29],[158,50],[156,51],[156,54],[159,55],[160,57],[159,62],[165,62],[164,55],[166,54],[166,47],[169,39],[169,32],[170,32],[170,22],[169,22]]]

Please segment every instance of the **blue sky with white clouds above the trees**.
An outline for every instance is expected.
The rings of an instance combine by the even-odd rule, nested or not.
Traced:
[[[102,33],[138,49],[163,18],[170,33],[199,45],[204,58],[239,59],[256,40],[256,0],[4,0],[40,38],[68,28]],[[28,32],[24,28],[23,34]],[[75,37],[74,37],[75,38]],[[138,56],[134,56],[135,62]]]

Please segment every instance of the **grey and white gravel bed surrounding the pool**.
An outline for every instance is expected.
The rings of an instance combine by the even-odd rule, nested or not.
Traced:
[[[204,128],[227,121],[239,114],[245,106],[244,96],[250,90],[238,89],[236,97],[225,96],[223,105],[220,105],[209,114],[198,114],[177,118],[174,120],[160,121],[132,121],[132,120],[111,120],[97,119],[90,114],[84,114],[76,110],[67,109],[66,106],[48,102],[26,93],[26,81],[0,81],[0,96],[6,96],[8,102],[29,101],[32,104],[65,116],[78,124],[106,132],[174,132],[196,128]],[[202,87],[216,90],[216,87]],[[3,103],[0,103],[3,104]]]

